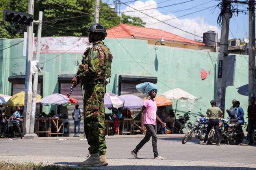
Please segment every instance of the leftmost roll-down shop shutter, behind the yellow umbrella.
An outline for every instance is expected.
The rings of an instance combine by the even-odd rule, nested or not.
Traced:
[[[15,95],[16,93],[19,93],[21,91],[25,91],[25,84],[12,83],[11,95]],[[41,83],[37,84],[37,94],[41,95]],[[21,109],[23,109],[23,107],[21,107]],[[12,107],[12,110],[15,110],[15,107]],[[35,110],[35,117],[39,117],[39,113],[40,113],[40,104],[37,104],[36,110]]]

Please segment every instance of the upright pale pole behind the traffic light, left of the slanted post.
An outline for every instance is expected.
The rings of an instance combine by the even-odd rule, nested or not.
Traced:
[[[34,14],[34,0],[28,0],[28,14]],[[26,54],[26,75],[25,75],[25,103],[24,103],[24,123],[23,133],[27,134],[30,128],[30,116],[31,116],[31,97],[32,97],[32,73],[30,61],[33,59],[33,23],[32,26],[28,26],[27,37],[27,54]],[[26,135],[24,135],[26,139]]]

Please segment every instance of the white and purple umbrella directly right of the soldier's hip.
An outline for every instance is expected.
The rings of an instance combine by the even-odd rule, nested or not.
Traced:
[[[113,93],[105,93],[104,106],[106,108],[121,108],[124,105],[124,99]]]

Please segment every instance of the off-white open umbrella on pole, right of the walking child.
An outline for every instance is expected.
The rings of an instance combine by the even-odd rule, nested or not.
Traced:
[[[166,92],[162,93],[161,95],[167,97],[168,99],[176,99],[177,100],[176,108],[175,108],[175,112],[174,112],[174,118],[176,115],[178,100],[188,100],[188,99],[197,100],[198,99],[197,97],[191,95],[187,91],[181,90],[180,88],[166,91]],[[173,128],[174,128],[174,122],[173,122]]]

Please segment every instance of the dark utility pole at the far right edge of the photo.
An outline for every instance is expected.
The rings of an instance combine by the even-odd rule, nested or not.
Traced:
[[[249,100],[255,97],[255,0],[249,0]]]

